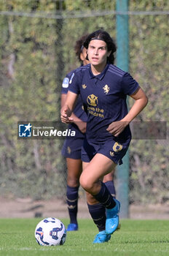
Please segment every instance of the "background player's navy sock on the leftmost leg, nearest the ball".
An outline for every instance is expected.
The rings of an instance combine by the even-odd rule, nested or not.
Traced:
[[[66,202],[68,205],[68,214],[70,217],[70,223],[74,224],[77,224],[78,191],[79,187],[69,187],[67,185]]]

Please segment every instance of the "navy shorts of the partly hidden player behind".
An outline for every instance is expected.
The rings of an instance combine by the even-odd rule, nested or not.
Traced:
[[[66,158],[81,159],[81,151],[85,135],[80,132],[75,125],[71,125],[71,128],[69,129],[74,130],[76,132],[76,136],[64,141],[62,155]]]

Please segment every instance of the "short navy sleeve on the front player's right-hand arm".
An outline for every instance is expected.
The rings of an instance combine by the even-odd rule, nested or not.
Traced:
[[[133,94],[139,88],[138,82],[127,72],[122,76],[121,86],[122,92],[126,95]]]

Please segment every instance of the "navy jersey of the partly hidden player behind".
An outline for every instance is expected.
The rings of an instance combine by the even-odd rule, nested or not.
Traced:
[[[68,85],[71,84],[71,80],[74,78],[74,71],[69,72],[66,78],[63,79],[61,94],[68,93]],[[87,121],[87,114],[84,112],[81,96],[79,95],[76,106],[74,108],[74,114],[82,121]]]

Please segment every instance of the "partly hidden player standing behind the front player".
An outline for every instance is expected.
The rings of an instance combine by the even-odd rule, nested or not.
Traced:
[[[74,47],[76,56],[78,57],[82,66],[89,64],[86,59],[87,49],[84,48],[83,43],[87,38],[87,34],[82,36],[76,41]],[[68,92],[68,83],[71,83],[74,72],[69,72],[66,78],[63,79],[62,90],[61,90],[61,106],[66,102],[66,94]],[[77,211],[78,211],[78,191],[79,191],[79,177],[82,173],[82,160],[81,160],[81,148],[84,141],[84,133],[86,132],[87,125],[87,114],[84,112],[82,105],[82,99],[79,96],[74,108],[74,113],[71,114],[74,118],[74,122],[69,124],[68,129],[76,131],[76,137],[66,139],[63,144],[62,154],[66,157],[67,165],[67,190],[66,190],[66,201],[68,205],[68,214],[70,217],[70,224],[67,227],[68,231],[78,230],[77,223]],[[116,196],[114,188],[114,171],[106,175],[103,179],[106,187],[108,187],[111,195]]]

